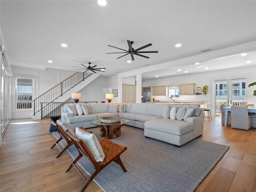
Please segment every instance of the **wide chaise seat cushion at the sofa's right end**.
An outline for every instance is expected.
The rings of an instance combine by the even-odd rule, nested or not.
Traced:
[[[174,135],[183,135],[194,130],[193,123],[172,119],[156,119],[145,122],[145,129],[157,130]]]

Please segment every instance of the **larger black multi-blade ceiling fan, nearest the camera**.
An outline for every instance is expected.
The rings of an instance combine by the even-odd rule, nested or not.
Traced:
[[[134,55],[138,55],[138,56],[141,56],[141,57],[145,57],[145,58],[147,58],[147,59],[149,58],[148,56],[144,56],[144,55],[142,55],[142,54],[140,54],[140,53],[158,53],[158,51],[139,51],[139,50],[142,50],[142,49],[144,49],[144,48],[146,48],[146,47],[148,47],[148,46],[151,46],[151,45],[152,45],[151,43],[150,43],[150,44],[147,44],[147,45],[144,45],[144,46],[142,46],[142,47],[140,47],[140,48],[138,48],[138,49],[135,49],[135,50],[134,50],[134,48],[132,48],[133,41],[127,40],[127,43],[128,43],[128,46],[129,46],[128,51],[127,51],[127,50],[124,50],[124,49],[120,49],[120,48],[118,48],[118,47],[111,46],[111,45],[108,45],[108,46],[114,47],[114,48],[117,48],[117,49],[120,49],[120,50],[125,51],[125,52],[116,52],[116,53],[126,53],[126,54],[124,54],[123,56],[126,56],[126,55],[130,54],[133,61],[134,61]],[[106,53],[106,54],[112,54],[112,53]],[[121,57],[123,57],[123,56],[120,56],[120,57],[118,57],[117,59],[119,59],[119,58],[121,58]]]

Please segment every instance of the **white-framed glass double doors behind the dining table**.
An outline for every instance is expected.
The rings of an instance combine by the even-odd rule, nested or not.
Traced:
[[[214,83],[216,87],[216,115],[220,115],[220,106],[222,104],[243,105],[246,99],[246,79],[220,80],[214,81]]]

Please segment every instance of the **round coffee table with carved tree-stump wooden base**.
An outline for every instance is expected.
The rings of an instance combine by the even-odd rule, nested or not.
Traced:
[[[114,139],[120,136],[122,125],[128,123],[128,120],[120,120],[116,123],[104,123],[101,120],[93,120],[92,124],[98,125],[100,127],[100,136],[108,139]]]

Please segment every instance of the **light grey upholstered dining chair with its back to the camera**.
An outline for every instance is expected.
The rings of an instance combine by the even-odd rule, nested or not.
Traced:
[[[231,106],[231,128],[249,130],[251,116],[247,106]]]

